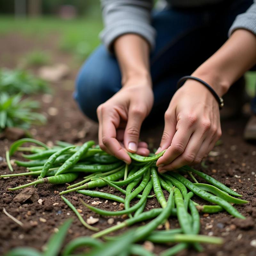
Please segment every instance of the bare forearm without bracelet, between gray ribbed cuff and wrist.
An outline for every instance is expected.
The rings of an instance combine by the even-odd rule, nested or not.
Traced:
[[[135,34],[123,35],[116,39],[114,50],[122,73],[122,85],[136,82],[151,86],[146,40]]]

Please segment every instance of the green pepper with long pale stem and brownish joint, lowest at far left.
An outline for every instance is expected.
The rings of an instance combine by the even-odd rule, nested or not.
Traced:
[[[58,176],[49,176],[47,178],[35,180],[33,182],[30,182],[30,183],[25,184],[25,185],[21,185],[21,186],[16,187],[16,188],[8,188],[8,190],[14,191],[14,190],[17,190],[17,189],[20,189],[20,188],[27,188],[27,187],[32,186],[32,185],[43,184],[43,183],[65,184],[65,183],[72,182],[73,180],[76,180],[77,177],[78,177],[78,173],[76,173],[76,172],[64,173],[64,174],[61,174],[61,175],[58,175]]]

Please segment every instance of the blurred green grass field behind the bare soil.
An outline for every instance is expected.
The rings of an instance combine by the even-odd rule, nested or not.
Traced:
[[[23,36],[33,36],[38,40],[44,40],[52,33],[59,35],[58,47],[61,51],[70,52],[76,59],[84,60],[100,44],[99,32],[103,28],[100,13],[95,13],[84,18],[63,20],[52,16],[41,18],[19,18],[0,16],[0,36],[10,33],[19,33]],[[33,55],[37,61],[40,52]],[[41,60],[43,61],[43,60]],[[44,60],[46,61],[46,60]],[[245,75],[247,93],[255,95],[256,72],[249,71]]]

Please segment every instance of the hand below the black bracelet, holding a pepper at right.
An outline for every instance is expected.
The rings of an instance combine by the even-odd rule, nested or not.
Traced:
[[[174,94],[164,115],[156,154],[167,149],[156,165],[163,173],[198,164],[221,136],[219,105],[203,84],[188,79]]]

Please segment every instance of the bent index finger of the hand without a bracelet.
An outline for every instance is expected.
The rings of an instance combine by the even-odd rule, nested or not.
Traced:
[[[120,117],[118,113],[111,110],[105,109],[104,112],[102,110],[102,143],[111,155],[123,160],[126,164],[130,164],[130,156],[116,139],[116,127],[119,125]]]

